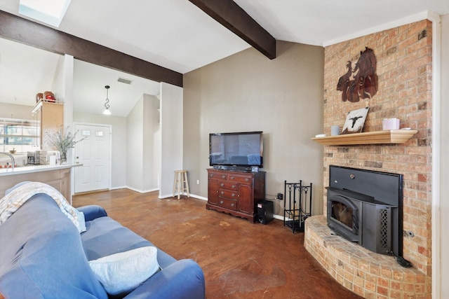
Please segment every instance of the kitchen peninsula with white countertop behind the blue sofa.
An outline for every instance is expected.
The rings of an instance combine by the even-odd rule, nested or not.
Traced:
[[[58,190],[72,204],[70,170],[82,164],[33,165],[0,169],[0,198],[5,191],[22,181],[39,181]]]

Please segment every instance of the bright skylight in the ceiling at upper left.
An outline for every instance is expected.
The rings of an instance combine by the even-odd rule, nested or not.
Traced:
[[[19,13],[59,27],[69,4],[70,0],[20,0]]]

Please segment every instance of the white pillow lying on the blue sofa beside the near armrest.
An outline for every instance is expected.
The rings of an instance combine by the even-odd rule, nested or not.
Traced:
[[[90,260],[89,265],[109,295],[129,293],[159,270],[154,246]]]

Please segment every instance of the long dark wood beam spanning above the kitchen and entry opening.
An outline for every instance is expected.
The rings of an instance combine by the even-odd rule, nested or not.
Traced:
[[[78,60],[182,87],[182,74],[98,43],[0,11],[0,37]]]

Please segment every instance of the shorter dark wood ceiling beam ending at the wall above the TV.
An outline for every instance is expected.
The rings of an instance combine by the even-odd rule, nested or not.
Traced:
[[[276,58],[276,39],[232,0],[189,0],[269,59]]]

